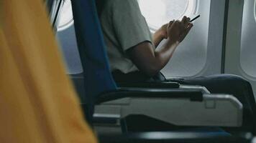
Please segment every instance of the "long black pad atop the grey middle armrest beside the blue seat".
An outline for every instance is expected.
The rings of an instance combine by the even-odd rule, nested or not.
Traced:
[[[190,99],[191,101],[203,101],[203,93],[200,89],[139,89],[119,88],[116,91],[105,92],[96,98],[96,104],[110,102],[115,99],[126,97],[137,98],[175,98]]]

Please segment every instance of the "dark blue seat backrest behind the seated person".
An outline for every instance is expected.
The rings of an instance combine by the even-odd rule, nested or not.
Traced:
[[[116,89],[109,69],[105,44],[94,0],[73,0],[73,19],[83,66],[86,99],[92,114],[99,94]]]

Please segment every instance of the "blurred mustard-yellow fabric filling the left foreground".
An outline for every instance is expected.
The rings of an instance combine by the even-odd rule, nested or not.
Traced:
[[[1,0],[0,22],[0,142],[97,142],[42,0]]]

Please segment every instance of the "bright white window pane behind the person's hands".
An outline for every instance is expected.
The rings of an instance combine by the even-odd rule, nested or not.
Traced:
[[[196,0],[138,0],[138,2],[152,31],[170,20],[191,16],[196,8]]]

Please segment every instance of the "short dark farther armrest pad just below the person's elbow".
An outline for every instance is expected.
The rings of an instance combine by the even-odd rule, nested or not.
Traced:
[[[140,83],[117,83],[118,87],[140,87],[140,88],[179,88],[180,84],[177,82],[140,82]]]

